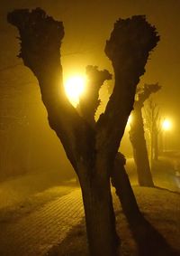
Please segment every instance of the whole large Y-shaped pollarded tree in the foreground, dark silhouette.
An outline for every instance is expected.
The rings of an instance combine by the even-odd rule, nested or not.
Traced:
[[[61,140],[79,178],[90,253],[93,256],[115,256],[117,235],[110,176],[133,108],[139,77],[145,72],[149,52],[157,45],[155,27],[141,15],[120,19],[114,24],[105,53],[112,61],[115,85],[104,113],[94,123],[95,100],[88,102],[92,103],[89,109],[82,107],[85,100],[81,100],[80,116],[64,91],[59,52],[64,36],[63,24],[40,8],[31,12],[15,10],[8,14],[8,21],[19,30],[22,41],[19,57],[39,81],[49,126]],[[98,92],[103,81],[109,79],[107,71],[98,71],[97,74],[91,85],[95,87],[92,89],[94,93]]]

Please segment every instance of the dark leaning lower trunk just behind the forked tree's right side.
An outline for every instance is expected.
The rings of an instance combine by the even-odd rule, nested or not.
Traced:
[[[135,225],[142,218],[130,180],[125,170],[125,158],[118,153],[112,171],[112,186],[116,189],[123,213],[130,224]]]

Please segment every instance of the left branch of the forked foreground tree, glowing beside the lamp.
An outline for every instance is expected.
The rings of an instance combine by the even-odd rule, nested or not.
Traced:
[[[94,139],[93,131],[69,103],[63,87],[59,51],[64,37],[63,24],[40,8],[31,12],[28,9],[15,10],[8,14],[7,20],[19,30],[19,57],[37,77],[49,125],[57,133],[76,169],[76,159],[87,157],[86,151],[91,150]]]

